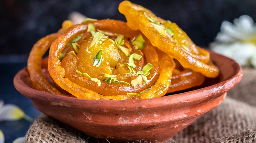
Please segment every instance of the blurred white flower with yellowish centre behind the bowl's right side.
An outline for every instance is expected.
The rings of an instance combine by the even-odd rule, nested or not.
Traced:
[[[236,60],[241,66],[250,63],[256,68],[256,25],[248,15],[224,21],[211,50]]]

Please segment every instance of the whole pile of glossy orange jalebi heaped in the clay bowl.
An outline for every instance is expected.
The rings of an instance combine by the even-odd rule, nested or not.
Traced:
[[[65,21],[57,33],[37,41],[28,59],[32,85],[82,99],[126,100],[161,97],[200,86],[204,76],[218,76],[209,53],[175,23],[129,1],[119,10],[127,23]]]

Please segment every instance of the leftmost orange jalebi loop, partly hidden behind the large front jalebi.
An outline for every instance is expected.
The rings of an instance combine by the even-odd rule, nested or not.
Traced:
[[[57,33],[50,34],[38,40],[34,44],[30,52],[27,65],[31,82],[35,89],[53,94],[62,94],[58,89],[53,87],[43,75],[41,70],[41,63],[43,55],[50,48],[52,42],[72,25],[73,23],[71,21],[64,21],[62,28]]]

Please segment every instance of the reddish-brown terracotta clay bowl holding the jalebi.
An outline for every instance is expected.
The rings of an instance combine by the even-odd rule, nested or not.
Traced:
[[[210,54],[220,69],[218,78],[206,79],[197,89],[155,99],[84,100],[45,93],[33,89],[26,68],[16,74],[14,86],[39,111],[98,140],[166,141],[222,103],[226,92],[240,82],[242,69],[235,61]]]

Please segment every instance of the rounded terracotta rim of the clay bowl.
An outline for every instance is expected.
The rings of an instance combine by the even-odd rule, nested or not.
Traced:
[[[26,67],[21,69],[17,72],[14,76],[13,83],[14,87],[24,96],[30,98],[32,100],[43,100],[47,102],[59,103],[60,105],[75,105],[76,107],[92,107],[97,105],[98,108],[105,108],[105,109],[120,109],[122,110],[124,107],[126,110],[134,109],[134,108],[154,108],[160,106],[169,106],[169,105],[179,105],[184,103],[198,103],[203,102],[205,100],[211,100],[213,98],[217,98],[224,93],[226,93],[230,88],[236,86],[242,79],[243,71],[240,65],[235,62],[234,60],[225,57],[223,55],[214,53],[208,50],[210,55],[221,56],[226,60],[229,60],[233,63],[232,68],[237,69],[230,78],[219,82],[217,84],[203,87],[200,89],[182,92],[178,94],[172,94],[168,96],[152,98],[152,99],[131,99],[131,100],[89,100],[89,99],[78,99],[73,97],[66,97],[62,95],[51,94],[43,91],[36,90],[27,86],[21,79],[21,75],[28,72]],[[230,86],[231,85],[231,86]],[[23,89],[22,89],[23,87]],[[214,93],[212,94],[212,90],[214,89]],[[221,90],[221,91],[220,91]],[[182,96],[181,96],[182,95]],[[193,96],[191,96],[193,95]]]

